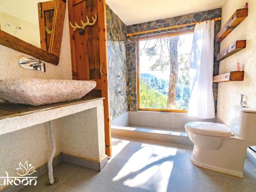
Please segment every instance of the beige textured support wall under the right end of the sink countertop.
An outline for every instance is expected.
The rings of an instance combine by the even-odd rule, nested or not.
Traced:
[[[61,152],[100,161],[105,157],[102,101],[95,108],[72,114],[56,122],[61,127]]]

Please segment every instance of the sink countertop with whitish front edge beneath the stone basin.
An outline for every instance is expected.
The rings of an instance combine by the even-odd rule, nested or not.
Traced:
[[[91,108],[103,106],[103,97],[83,97],[78,100],[47,105],[0,103],[0,135],[47,122]]]

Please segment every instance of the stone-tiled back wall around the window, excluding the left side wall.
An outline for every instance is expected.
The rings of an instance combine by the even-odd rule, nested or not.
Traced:
[[[181,25],[191,22],[199,22],[201,20],[207,20],[212,19],[216,17],[221,17],[221,9],[214,9],[214,10],[208,10],[208,11],[201,11],[198,13],[191,13],[187,15],[177,16],[173,18],[167,18],[167,19],[160,19],[155,20],[153,22],[147,22],[137,25],[131,25],[127,26],[127,32],[128,33],[134,33],[139,31],[146,31],[151,29],[157,29],[162,27],[169,27],[174,25]],[[175,32],[178,30],[184,30],[184,29],[193,29],[194,26],[186,26],[176,29],[170,29],[170,30],[162,30],[157,31],[153,33],[147,33],[146,35],[152,35],[152,34],[160,34],[160,33],[166,33],[166,32]],[[220,31],[221,29],[221,22],[217,22],[215,25],[215,35]],[[136,35],[133,36],[127,44],[127,53],[126,53],[126,59],[127,59],[127,86],[128,86],[128,105],[129,105],[129,111],[136,111],[137,110],[137,74],[136,74],[136,37],[138,36],[146,36],[145,34],[142,35]],[[220,44],[215,44],[214,49],[214,57],[216,58],[217,54],[220,52]],[[214,62],[214,75],[218,75],[219,73],[219,62]],[[218,94],[218,84],[214,83],[212,86],[214,90],[214,99],[215,99],[215,106],[217,110],[217,94]]]

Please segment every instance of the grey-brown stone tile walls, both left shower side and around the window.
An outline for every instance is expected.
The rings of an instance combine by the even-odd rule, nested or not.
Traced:
[[[136,38],[138,36],[193,29],[194,26],[136,35],[129,40],[125,40],[127,33],[198,22],[216,17],[221,17],[221,9],[201,11],[173,18],[125,26],[122,20],[106,5],[111,119],[122,115],[128,110],[137,111]],[[220,28],[221,22],[219,21],[215,25],[215,34],[220,31]],[[216,43],[214,52],[215,58],[219,52],[220,44]],[[214,62],[214,75],[218,75],[218,73],[219,62]],[[214,90],[215,106],[217,110],[218,83],[214,83],[212,89]]]

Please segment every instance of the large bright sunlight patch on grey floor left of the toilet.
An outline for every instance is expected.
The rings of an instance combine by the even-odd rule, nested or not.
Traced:
[[[170,157],[176,154],[177,148],[141,143],[112,181],[123,180],[123,185],[129,187],[150,187],[146,183],[152,182],[157,176],[155,187],[158,191],[166,191],[174,165]]]

